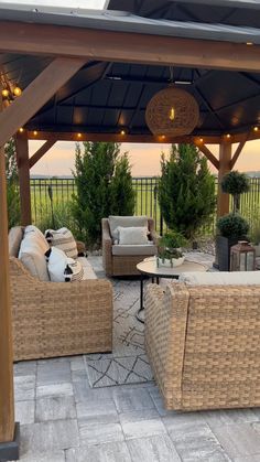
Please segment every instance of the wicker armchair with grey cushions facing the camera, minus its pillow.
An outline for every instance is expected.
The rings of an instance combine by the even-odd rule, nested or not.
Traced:
[[[111,233],[111,219],[113,227],[116,223],[127,226],[143,226],[147,223],[149,229],[150,246],[121,246],[115,243]],[[129,224],[128,224],[129,223]],[[141,225],[139,224],[141,223]],[[134,276],[139,275],[137,265],[147,257],[156,254],[158,234],[154,229],[153,218],[145,216],[109,217],[102,218],[102,265],[107,276]]]

